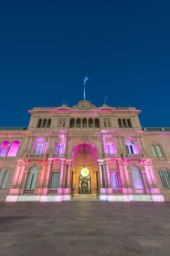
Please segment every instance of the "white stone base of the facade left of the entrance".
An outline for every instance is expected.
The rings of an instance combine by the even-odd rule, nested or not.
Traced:
[[[59,202],[69,201],[70,195],[7,195],[6,202]]]

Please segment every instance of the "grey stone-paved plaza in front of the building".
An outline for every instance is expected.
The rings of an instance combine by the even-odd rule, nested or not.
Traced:
[[[0,203],[0,255],[108,254],[170,256],[170,203]]]

